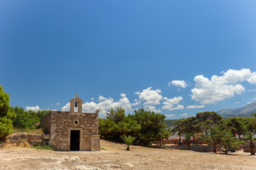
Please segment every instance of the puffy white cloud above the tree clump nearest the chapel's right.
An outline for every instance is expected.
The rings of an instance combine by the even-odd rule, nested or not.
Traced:
[[[161,90],[151,90],[152,87],[142,90],[142,92],[137,91],[135,94],[139,95],[140,101],[145,101],[144,105],[156,105],[160,104],[161,99],[163,98],[160,93]]]

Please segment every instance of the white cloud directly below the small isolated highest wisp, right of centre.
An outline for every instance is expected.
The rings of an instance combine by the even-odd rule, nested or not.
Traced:
[[[182,100],[183,100],[183,98],[181,96],[174,97],[174,98],[164,97],[164,102],[163,102],[164,106],[162,106],[161,108],[164,110],[169,110],[169,111],[183,109],[184,106],[182,106],[182,105],[178,105],[175,107],[175,105],[177,105]]]

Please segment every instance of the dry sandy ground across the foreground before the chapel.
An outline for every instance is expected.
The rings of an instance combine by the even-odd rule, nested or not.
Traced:
[[[0,169],[255,169],[256,156],[131,146],[101,140],[100,152],[56,152],[11,147],[0,149]]]

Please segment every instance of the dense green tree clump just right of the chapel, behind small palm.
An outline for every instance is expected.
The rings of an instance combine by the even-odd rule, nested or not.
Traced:
[[[120,136],[136,137],[139,145],[148,146],[152,142],[162,143],[171,135],[170,128],[164,123],[165,115],[139,108],[133,115],[126,115],[121,107],[111,108],[106,118],[99,119],[99,133],[103,139],[120,141]]]

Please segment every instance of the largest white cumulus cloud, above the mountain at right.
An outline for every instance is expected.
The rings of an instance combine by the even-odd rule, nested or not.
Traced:
[[[235,94],[242,94],[245,88],[238,82],[256,83],[256,73],[251,72],[250,69],[229,69],[221,73],[222,76],[213,75],[210,79],[203,75],[196,76],[194,78],[196,86],[191,89],[191,98],[202,103],[215,103],[233,97]]]

